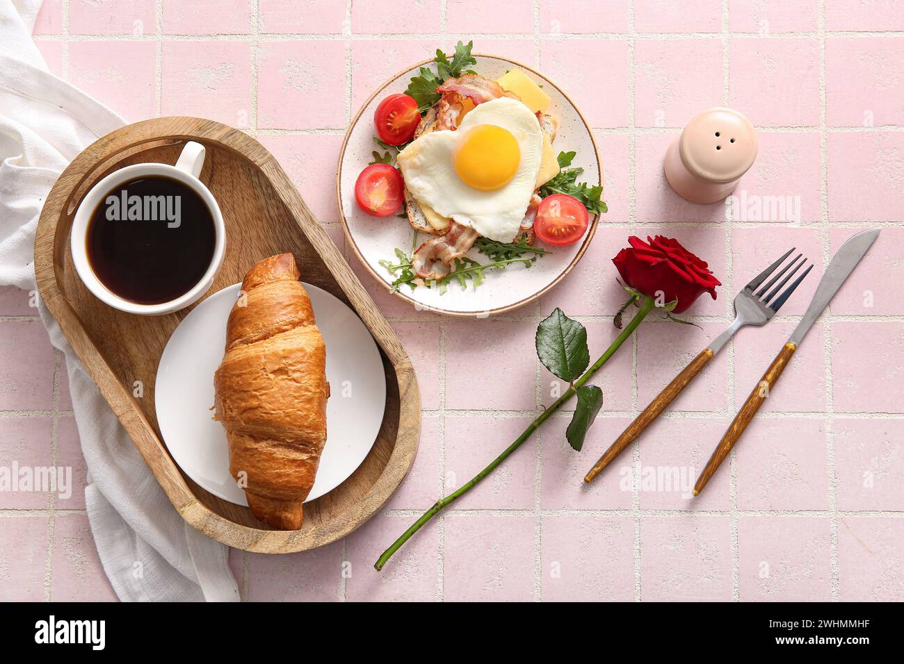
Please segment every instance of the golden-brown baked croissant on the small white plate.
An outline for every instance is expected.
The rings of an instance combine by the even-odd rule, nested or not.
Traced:
[[[214,418],[229,440],[230,473],[255,517],[295,530],[326,443],[326,346],[295,257],[260,261],[226,323],[213,377]]]

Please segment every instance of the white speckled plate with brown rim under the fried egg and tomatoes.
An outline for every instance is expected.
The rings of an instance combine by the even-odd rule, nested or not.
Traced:
[[[475,54],[477,64],[474,70],[488,79],[497,79],[507,70],[521,69],[535,82],[543,86],[543,91],[551,98],[547,111],[559,120],[559,130],[552,144],[556,154],[575,151],[573,166],[581,166],[584,173],[579,181],[598,184],[602,182],[602,167],[597,154],[593,133],[580,112],[550,79],[525,65],[492,55]],[[383,259],[394,259],[394,249],[410,252],[415,243],[415,231],[406,220],[390,217],[372,217],[358,208],[354,202],[354,182],[363,168],[371,162],[372,152],[380,150],[373,141],[373,113],[383,98],[395,92],[404,92],[412,76],[416,76],[422,65],[432,61],[419,62],[410,70],[402,71],[384,83],[373,93],[354,118],[345,135],[342,153],[339,155],[338,195],[339,210],[354,253],[362,260],[373,276],[390,287],[394,277],[380,265]],[[566,276],[589,246],[597,228],[597,217],[590,218],[589,229],[580,242],[570,247],[548,247],[551,254],[541,257],[530,269],[515,264],[504,270],[488,270],[484,284],[474,288],[468,286],[462,291],[458,285],[450,284],[445,294],[438,288],[417,287],[413,292],[403,285],[397,295],[421,309],[438,313],[474,316],[503,313],[522,306],[539,297]],[[428,236],[420,233],[417,244]],[[487,257],[471,249],[468,254],[478,262],[487,262]]]

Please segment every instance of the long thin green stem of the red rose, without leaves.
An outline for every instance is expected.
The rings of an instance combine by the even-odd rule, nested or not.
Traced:
[[[504,452],[497,456],[484,470],[478,472],[476,476],[470,481],[466,482],[462,486],[460,486],[456,491],[453,491],[445,498],[441,498],[437,500],[433,507],[423,513],[420,519],[415,521],[411,527],[401,534],[400,538],[395,540],[392,543],[392,546],[383,551],[380,559],[377,560],[374,567],[378,570],[382,569],[384,565],[386,565],[386,561],[389,560],[396,551],[400,549],[400,547],[405,544],[409,540],[409,538],[414,535],[421,526],[427,523],[430,519],[433,519],[440,510],[443,510],[447,505],[457,500],[461,496],[463,496],[467,491],[470,491],[474,488],[481,480],[483,480],[488,474],[494,471],[495,467],[500,463],[503,463],[505,459],[508,458],[509,454],[512,454],[515,450],[517,450],[521,444],[531,437],[531,434],[537,430],[547,420],[549,416],[552,415],[559,407],[568,401],[571,397],[574,396],[577,388],[586,383],[592,376],[595,374],[600,367],[606,364],[606,361],[612,357],[613,353],[618,350],[618,347],[625,342],[625,340],[631,336],[631,332],[634,332],[636,327],[644,320],[647,313],[650,313],[654,308],[654,299],[649,295],[644,295],[640,301],[640,311],[638,311],[634,318],[631,319],[631,322],[626,325],[626,328],[619,334],[615,341],[612,341],[612,345],[609,346],[597,361],[595,361],[587,371],[584,372],[584,375],[579,379],[574,381],[574,384],[570,386],[570,388],[566,389],[562,396],[555,400],[555,402],[548,408],[546,408],[533,422],[524,429],[522,435],[519,435],[513,444],[510,444],[505,448]]]

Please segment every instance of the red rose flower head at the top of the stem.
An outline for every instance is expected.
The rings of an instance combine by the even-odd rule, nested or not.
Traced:
[[[663,303],[678,300],[673,313],[682,313],[704,291],[716,299],[719,279],[712,276],[706,261],[683,248],[678,240],[657,235],[647,236],[649,244],[635,236],[627,241],[631,247],[612,259],[627,285],[651,297],[662,293]]]

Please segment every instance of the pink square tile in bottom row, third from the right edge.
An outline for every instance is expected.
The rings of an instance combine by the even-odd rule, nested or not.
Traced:
[[[728,602],[728,517],[644,517],[640,521],[641,599]]]

